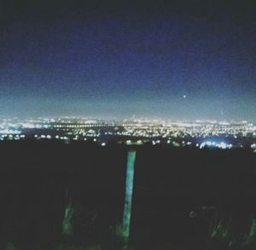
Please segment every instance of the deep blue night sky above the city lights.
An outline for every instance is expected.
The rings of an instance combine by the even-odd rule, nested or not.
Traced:
[[[1,1],[0,116],[256,122],[255,1],[20,2]]]

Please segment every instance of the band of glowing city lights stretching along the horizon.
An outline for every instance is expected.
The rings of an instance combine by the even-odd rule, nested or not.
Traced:
[[[5,119],[0,124],[0,139],[56,139],[92,141],[108,145],[172,145],[175,147],[211,147],[255,150],[256,126],[242,122],[165,122],[143,118],[104,121],[79,117],[38,118],[20,121]]]

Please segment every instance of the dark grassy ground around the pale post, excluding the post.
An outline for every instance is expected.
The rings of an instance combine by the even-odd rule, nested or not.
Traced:
[[[122,249],[127,150],[1,143],[1,249]],[[137,148],[129,245],[256,249],[256,154]]]

